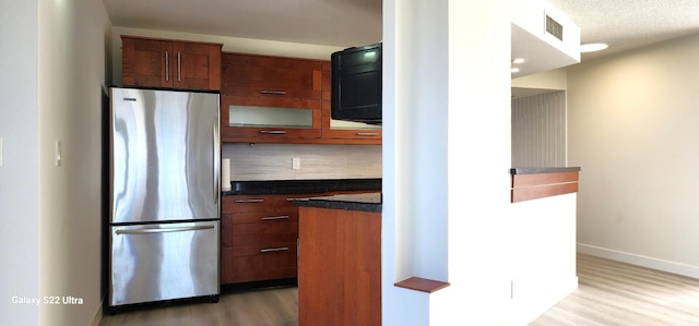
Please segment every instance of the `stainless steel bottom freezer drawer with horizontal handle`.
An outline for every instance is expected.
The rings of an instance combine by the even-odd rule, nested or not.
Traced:
[[[218,220],[112,226],[109,305],[217,295]]]

